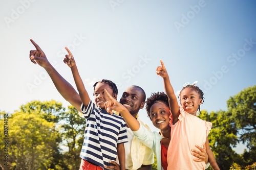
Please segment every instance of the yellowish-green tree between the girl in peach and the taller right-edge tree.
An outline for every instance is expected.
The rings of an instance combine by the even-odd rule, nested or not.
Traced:
[[[237,139],[237,129],[233,124],[233,119],[225,111],[211,112],[210,114],[203,110],[199,117],[212,123],[208,135],[209,145],[214,153],[216,161],[221,169],[229,169],[236,154],[232,150],[235,147]],[[212,169],[209,167],[209,169]]]

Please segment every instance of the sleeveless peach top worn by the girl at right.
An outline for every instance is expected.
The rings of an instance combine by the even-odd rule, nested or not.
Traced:
[[[212,124],[191,115],[180,106],[178,122],[173,125],[173,116],[170,115],[171,140],[167,151],[168,170],[174,169],[205,169],[205,162],[196,162],[191,155],[195,145],[203,148]]]

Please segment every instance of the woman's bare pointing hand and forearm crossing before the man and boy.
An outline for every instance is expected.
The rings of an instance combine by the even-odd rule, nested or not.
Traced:
[[[133,117],[132,114],[122,104],[117,102],[117,100],[114,99],[106,89],[104,89],[104,91],[107,98],[109,98],[109,101],[105,102],[106,111],[108,111],[110,114],[113,114],[112,110],[119,112],[132,131],[139,130],[140,123],[138,120]]]

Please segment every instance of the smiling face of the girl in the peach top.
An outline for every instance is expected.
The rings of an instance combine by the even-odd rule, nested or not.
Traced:
[[[187,113],[196,116],[198,106],[202,104],[202,99],[193,88],[184,88],[180,93],[180,104]]]

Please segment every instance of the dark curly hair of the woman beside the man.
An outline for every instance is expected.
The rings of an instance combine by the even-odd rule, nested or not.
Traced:
[[[147,98],[147,100],[145,102],[147,117],[150,117],[150,108],[156,102],[164,103],[166,106],[169,107],[168,96],[164,92],[151,93],[151,96],[149,98]],[[151,117],[150,117],[150,119],[151,119]]]

